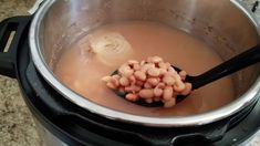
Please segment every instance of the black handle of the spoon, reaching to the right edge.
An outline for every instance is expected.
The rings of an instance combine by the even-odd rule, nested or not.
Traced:
[[[206,73],[191,77],[190,83],[193,90],[199,88],[212,81],[221,79],[243,67],[252,65],[260,61],[260,44],[249,49],[248,51],[236,55],[235,58],[219,64],[218,66],[207,71]]]

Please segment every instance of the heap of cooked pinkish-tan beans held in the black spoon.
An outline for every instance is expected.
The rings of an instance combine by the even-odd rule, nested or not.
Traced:
[[[141,62],[128,60],[118,73],[104,76],[102,81],[127,101],[143,100],[146,103],[163,102],[164,107],[173,107],[178,95],[189,95],[191,84],[185,82],[187,73],[179,73],[159,56],[149,56]]]

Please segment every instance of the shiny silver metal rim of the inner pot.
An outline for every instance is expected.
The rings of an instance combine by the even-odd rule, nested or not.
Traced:
[[[148,117],[148,116],[139,116],[127,114],[118,111],[114,111],[111,108],[106,108],[104,106],[97,105],[75,92],[69,90],[64,86],[52,73],[52,71],[48,67],[48,64],[44,62],[43,54],[40,51],[39,44],[39,32],[40,32],[40,23],[43,19],[44,14],[49,11],[51,6],[55,2],[55,0],[46,0],[42,3],[41,8],[35,13],[33,21],[30,28],[30,50],[33,63],[41,75],[45,79],[45,81],[52,85],[56,91],[59,91],[65,98],[70,100],[72,103],[94,113],[101,115],[103,117],[121,121],[125,123],[145,125],[145,126],[155,126],[155,127],[184,127],[184,126],[199,126],[209,124],[219,119],[223,119],[240,112],[242,108],[247,107],[251,102],[256,100],[259,95],[260,91],[260,79],[258,79],[254,84],[243,95],[241,95],[238,100],[232,103],[222,106],[218,109],[202,113],[199,115],[193,116],[174,116],[174,117]],[[256,27],[259,33],[259,24],[253,17],[252,12],[246,8],[246,6],[239,0],[231,0],[233,4],[236,4],[243,13],[247,14],[249,20]],[[260,33],[259,33],[260,34]]]

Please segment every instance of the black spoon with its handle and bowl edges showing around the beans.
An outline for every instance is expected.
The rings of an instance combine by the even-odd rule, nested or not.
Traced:
[[[219,80],[223,76],[230,75],[241,69],[245,69],[247,66],[250,66],[254,63],[258,63],[260,61],[260,44],[231,58],[230,60],[215,66],[214,69],[197,75],[197,76],[191,76],[187,75],[185,79],[185,82],[191,83],[193,85],[193,91],[197,90],[206,84],[209,84],[216,80]],[[179,67],[176,67],[171,65],[177,72],[180,72],[181,70]],[[116,70],[113,72],[112,75],[118,74],[118,71]],[[125,94],[122,94],[117,91],[114,91],[119,97],[125,98]],[[187,96],[184,95],[178,95],[176,98],[176,103],[181,102],[185,100]],[[159,107],[163,106],[163,102],[153,102],[153,103],[146,103],[144,101],[137,101],[134,102],[135,104],[142,105],[142,106],[147,106],[147,107]]]

